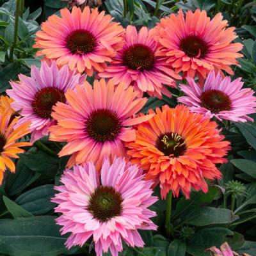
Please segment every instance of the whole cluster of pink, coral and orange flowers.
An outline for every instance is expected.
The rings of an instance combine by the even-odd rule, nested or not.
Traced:
[[[92,237],[98,256],[118,255],[122,241],[143,246],[138,230],[157,228],[148,209],[155,186],[162,198],[207,193],[230,148],[216,121],[250,121],[256,107],[241,77],[223,74],[233,74],[242,45],[220,13],[180,10],[140,31],[112,19],[89,6],[49,17],[34,45],[42,67],[11,81],[11,99],[0,104],[0,182],[6,168],[15,171],[10,157],[30,145],[17,142],[22,136],[63,143],[58,156],[70,158],[52,198],[57,223],[70,233],[68,248]],[[188,84],[178,86],[182,77]],[[187,106],[142,111],[147,95],[172,97],[172,88]]]

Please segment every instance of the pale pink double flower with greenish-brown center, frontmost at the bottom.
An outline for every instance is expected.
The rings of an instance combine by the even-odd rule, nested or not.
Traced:
[[[152,196],[152,183],[143,179],[136,165],[117,158],[113,164],[104,159],[101,175],[93,163],[75,165],[66,169],[61,182],[55,187],[60,193],[52,202],[58,204],[56,212],[61,234],[71,233],[66,246],[83,246],[93,236],[97,256],[110,249],[117,256],[122,251],[122,240],[129,246],[143,247],[139,229],[156,230],[150,220],[155,212],[147,209],[157,201]]]

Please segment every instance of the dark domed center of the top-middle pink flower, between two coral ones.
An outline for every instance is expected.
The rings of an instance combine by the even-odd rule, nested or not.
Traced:
[[[134,70],[150,70],[154,67],[154,52],[146,45],[136,44],[129,47],[123,56],[125,65]]]

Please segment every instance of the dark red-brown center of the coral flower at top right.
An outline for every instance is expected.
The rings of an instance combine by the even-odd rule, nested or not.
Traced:
[[[180,41],[180,49],[189,57],[202,58],[207,54],[208,45],[198,36],[187,36]]]

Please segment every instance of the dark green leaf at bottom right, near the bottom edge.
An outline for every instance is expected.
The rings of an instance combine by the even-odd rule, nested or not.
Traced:
[[[209,256],[205,249],[211,246],[220,247],[221,244],[227,241],[227,237],[234,236],[234,232],[228,228],[212,227],[203,228],[196,232],[196,234],[189,239],[187,243],[187,252],[193,256]],[[232,246],[232,239],[230,239],[230,246]]]

